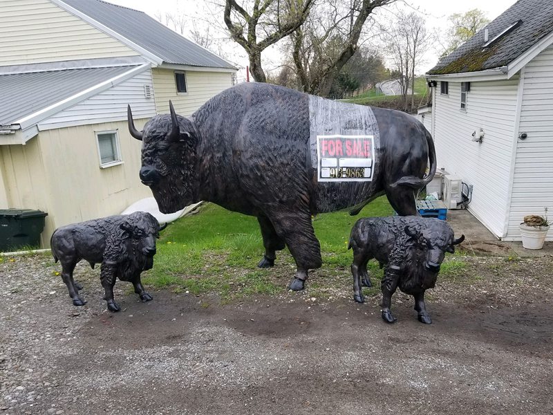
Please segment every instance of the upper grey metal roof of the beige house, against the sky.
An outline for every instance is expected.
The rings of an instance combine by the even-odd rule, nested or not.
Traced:
[[[59,0],[160,57],[166,64],[236,69],[209,50],[163,26],[146,13],[102,0]]]

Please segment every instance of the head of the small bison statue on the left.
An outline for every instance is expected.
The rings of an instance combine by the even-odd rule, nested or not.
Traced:
[[[156,255],[156,239],[160,236],[158,220],[147,212],[133,212],[119,227],[129,233],[131,243],[146,257]]]

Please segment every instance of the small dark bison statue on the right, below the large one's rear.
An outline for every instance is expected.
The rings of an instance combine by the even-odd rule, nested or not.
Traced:
[[[393,323],[397,319],[390,311],[395,289],[415,297],[418,320],[431,324],[424,306],[424,291],[433,288],[445,252],[455,252],[455,246],[465,240],[453,236],[444,221],[420,216],[392,216],[359,219],[353,225],[348,248],[353,248],[353,298],[364,302],[361,284],[371,286],[367,262],[375,258],[382,268],[382,319]]]

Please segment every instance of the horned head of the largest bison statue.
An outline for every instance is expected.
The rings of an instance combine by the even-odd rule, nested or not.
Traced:
[[[142,141],[140,181],[150,187],[160,212],[172,213],[197,201],[197,134],[194,124],[177,116],[171,101],[171,114],[151,118],[144,130],[134,127],[131,106],[127,108],[129,132]]]

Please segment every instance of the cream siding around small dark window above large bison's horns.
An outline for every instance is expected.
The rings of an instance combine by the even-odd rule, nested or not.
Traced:
[[[158,113],[169,113],[169,100],[176,113],[190,116],[214,95],[232,86],[231,73],[186,71],[187,93],[177,93],[175,71],[153,68],[153,90]]]

